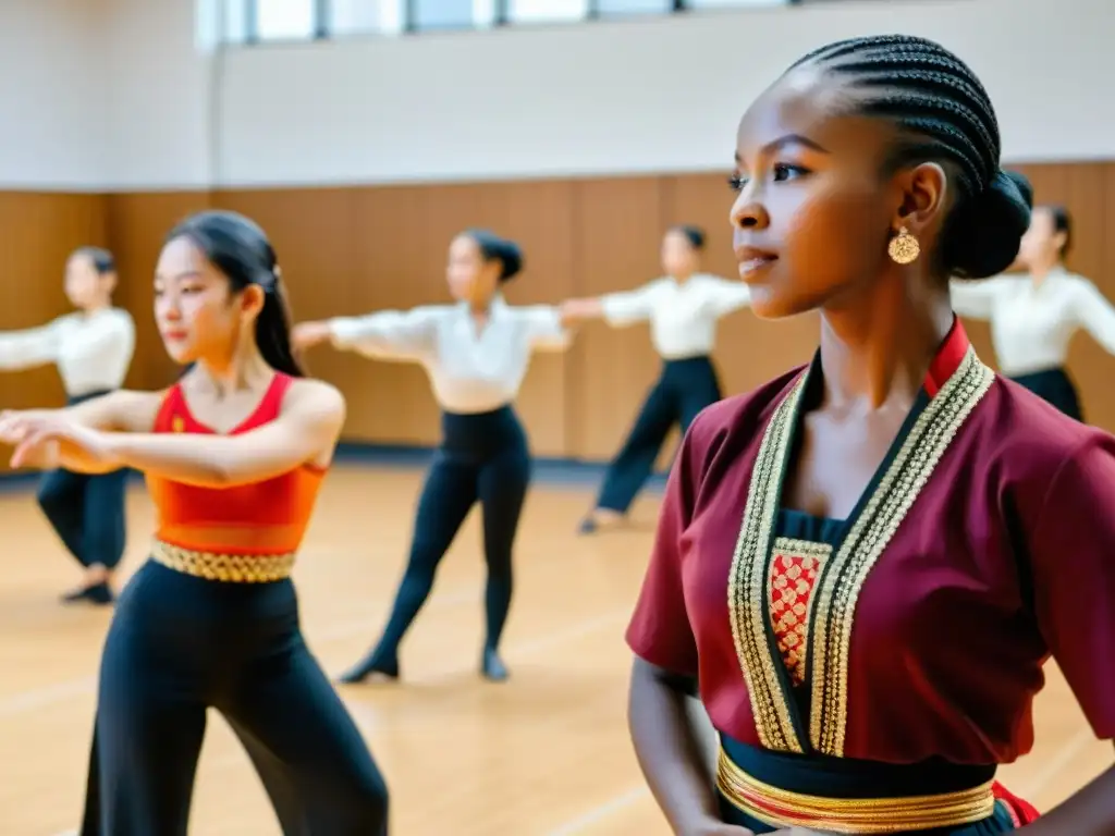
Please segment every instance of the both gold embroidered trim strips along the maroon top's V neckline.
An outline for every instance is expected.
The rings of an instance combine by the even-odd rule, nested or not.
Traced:
[[[773,751],[803,752],[792,696],[776,665],[772,641],[772,536],[780,504],[782,472],[789,451],[807,373],[776,407],[752,473],[739,537],[728,575],[728,615],[736,657],[747,683],[759,742]],[[841,757],[847,723],[847,665],[860,591],[929,482],[957,431],[980,401],[995,373],[968,349],[904,439],[835,555],[825,561],[809,599],[812,707],[808,736],[818,751]]]

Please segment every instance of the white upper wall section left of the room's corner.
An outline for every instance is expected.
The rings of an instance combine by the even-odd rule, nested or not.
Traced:
[[[0,188],[103,183],[100,0],[0,0]]]

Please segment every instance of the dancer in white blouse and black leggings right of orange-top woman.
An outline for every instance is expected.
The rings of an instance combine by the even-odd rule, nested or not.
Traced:
[[[294,342],[302,348],[328,340],[338,349],[371,358],[421,363],[442,407],[442,441],[418,500],[410,557],[395,606],[379,642],[341,675],[342,682],[360,682],[372,673],[399,675],[399,642],[477,500],[484,514],[487,562],[487,635],[481,671],[489,680],[507,678],[498,645],[511,606],[515,533],[531,477],[526,435],[512,402],[532,351],[560,351],[570,343],[556,308],[503,301],[500,288],[521,268],[514,243],[472,230],[449,246],[447,279],[457,304],[294,328]]]

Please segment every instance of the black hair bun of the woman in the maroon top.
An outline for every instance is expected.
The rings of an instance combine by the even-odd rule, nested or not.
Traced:
[[[1030,182],[1000,168],[991,185],[966,198],[946,224],[942,259],[948,274],[987,279],[1004,272],[1018,257],[1032,208]]]

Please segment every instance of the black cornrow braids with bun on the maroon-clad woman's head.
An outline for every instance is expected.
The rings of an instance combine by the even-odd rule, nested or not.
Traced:
[[[941,45],[906,35],[836,41],[789,69],[806,65],[844,81],[857,113],[898,126],[890,169],[950,164],[958,200],[942,230],[939,266],[967,279],[1006,270],[1029,225],[1034,196],[1024,177],[999,167],[999,123],[976,74]]]

